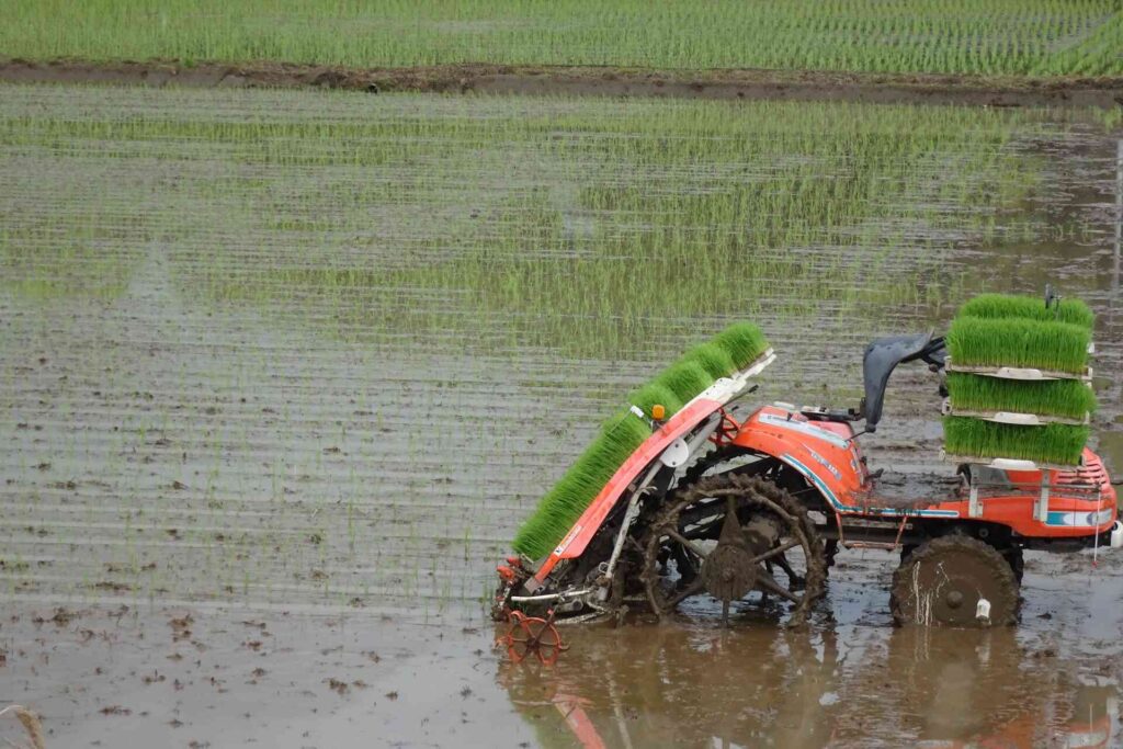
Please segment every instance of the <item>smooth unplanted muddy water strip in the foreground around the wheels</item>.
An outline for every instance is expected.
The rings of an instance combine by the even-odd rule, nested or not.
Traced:
[[[1116,560],[1031,556],[1022,623],[994,631],[893,628],[888,568],[842,555],[807,632],[573,629],[554,668],[463,613],[17,605],[3,696],[49,746],[1119,746]]]

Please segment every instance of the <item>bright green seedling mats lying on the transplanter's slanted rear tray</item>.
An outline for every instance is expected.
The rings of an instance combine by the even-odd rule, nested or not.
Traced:
[[[632,391],[629,402],[648,418],[654,405],[663,405],[669,418],[716,378],[734,374],[767,348],[768,341],[757,326],[731,325],[712,341],[694,347],[649,383]],[[535,513],[514,537],[514,550],[531,559],[553,551],[613,474],[650,436],[648,424],[630,411],[610,419],[588,448],[538,502]]]

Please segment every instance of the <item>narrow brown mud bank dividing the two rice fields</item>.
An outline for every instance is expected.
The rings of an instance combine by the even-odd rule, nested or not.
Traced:
[[[429,91],[585,94],[984,107],[1111,108],[1123,104],[1123,79],[1117,77],[1010,79],[769,70],[650,71],[511,65],[348,68],[273,62],[184,65],[176,61],[8,60],[0,62],[0,81],[111,83],[157,88],[328,88],[372,93]]]

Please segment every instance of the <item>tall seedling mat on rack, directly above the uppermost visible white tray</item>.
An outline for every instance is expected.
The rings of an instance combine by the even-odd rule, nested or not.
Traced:
[[[1065,322],[958,317],[948,330],[951,360],[962,366],[1033,367],[1083,374],[1092,332]]]

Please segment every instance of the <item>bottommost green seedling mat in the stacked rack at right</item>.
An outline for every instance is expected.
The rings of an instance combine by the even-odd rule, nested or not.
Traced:
[[[1088,433],[1088,427],[1069,424],[1021,427],[965,417],[943,419],[943,448],[953,456],[1075,466],[1080,463]]]

